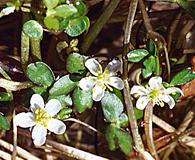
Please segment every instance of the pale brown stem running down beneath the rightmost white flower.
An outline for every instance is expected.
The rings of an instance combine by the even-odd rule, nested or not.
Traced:
[[[145,134],[148,148],[156,160],[159,160],[156,147],[154,145],[153,131],[152,131],[152,116],[153,116],[153,104],[149,102],[145,109],[144,121],[145,121]]]

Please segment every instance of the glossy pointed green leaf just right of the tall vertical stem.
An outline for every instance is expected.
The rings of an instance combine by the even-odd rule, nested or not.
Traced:
[[[127,54],[127,59],[130,62],[139,62],[146,57],[149,52],[145,49],[135,49]]]

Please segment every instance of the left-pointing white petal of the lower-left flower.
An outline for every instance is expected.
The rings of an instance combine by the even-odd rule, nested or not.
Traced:
[[[28,127],[32,127],[35,125],[34,114],[32,112],[19,113],[14,117],[13,121],[16,126],[19,126],[22,128],[28,128]]]

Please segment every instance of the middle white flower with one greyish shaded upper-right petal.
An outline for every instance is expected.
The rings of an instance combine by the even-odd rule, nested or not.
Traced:
[[[82,78],[79,82],[79,86],[83,90],[93,88],[92,98],[94,101],[100,101],[102,99],[106,88],[112,90],[110,86],[119,90],[124,88],[122,79],[116,77],[117,72],[121,67],[121,62],[119,60],[111,61],[105,68],[104,72],[102,66],[94,58],[88,59],[85,62],[85,66],[93,76]]]

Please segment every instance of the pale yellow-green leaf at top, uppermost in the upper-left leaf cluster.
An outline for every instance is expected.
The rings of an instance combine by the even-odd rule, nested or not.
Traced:
[[[72,17],[74,14],[78,13],[77,9],[73,5],[62,4],[56,7],[54,12],[54,16],[69,18]]]

